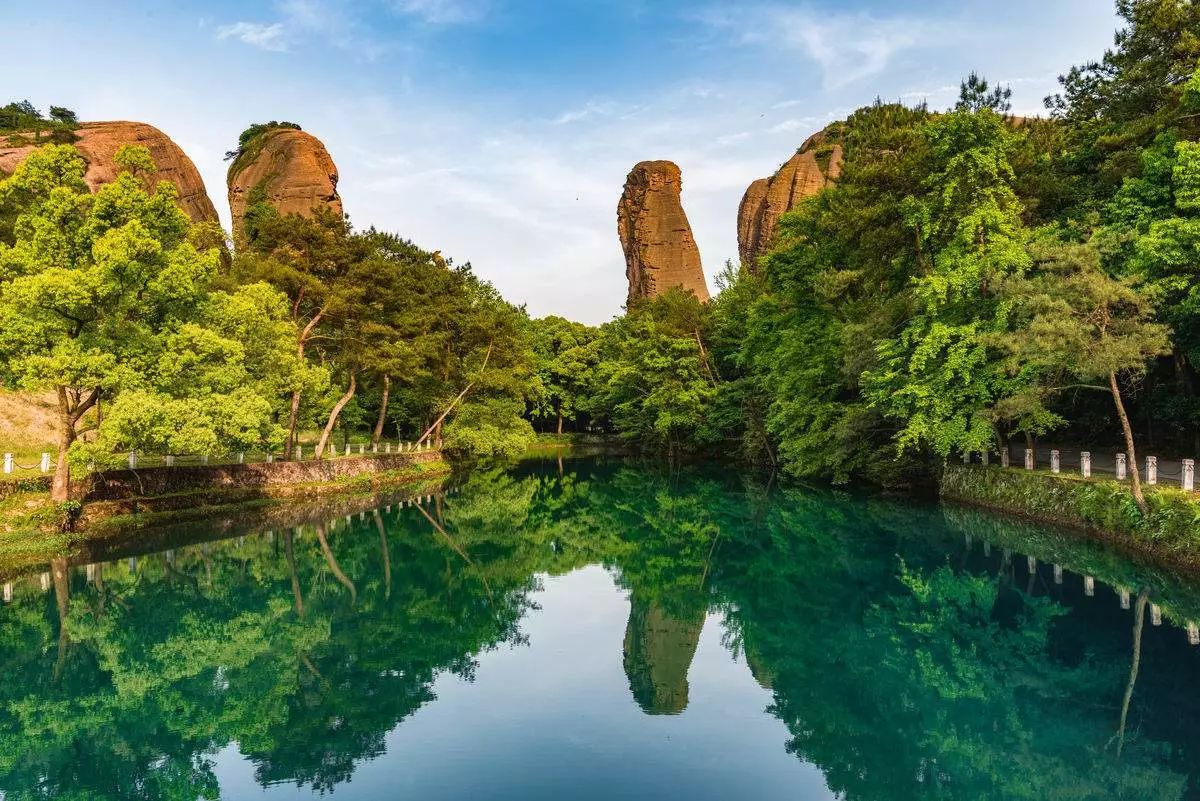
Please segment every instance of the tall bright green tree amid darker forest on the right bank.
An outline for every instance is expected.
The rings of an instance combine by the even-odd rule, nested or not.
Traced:
[[[928,446],[946,457],[995,440],[988,411],[1013,391],[988,349],[988,336],[1007,329],[996,289],[1028,254],[1008,161],[1019,134],[984,108],[936,118],[925,135],[934,168],[925,194],[905,204],[917,251],[913,317],[876,345],[881,363],[864,383],[900,423],[901,451]]]

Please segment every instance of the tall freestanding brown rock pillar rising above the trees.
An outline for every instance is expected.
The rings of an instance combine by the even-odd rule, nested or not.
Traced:
[[[700,249],[679,193],[679,168],[666,161],[642,162],[625,179],[617,204],[617,234],[625,251],[629,302],[683,287],[708,300]]]

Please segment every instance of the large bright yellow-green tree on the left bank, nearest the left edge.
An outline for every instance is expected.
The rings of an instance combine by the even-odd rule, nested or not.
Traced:
[[[215,308],[218,253],[192,245],[173,185],[143,189],[132,168],[148,159],[144,149],[124,150],[119,161],[127,167],[92,194],[74,149],[49,145],[0,182],[0,206],[19,205],[14,241],[0,245],[0,353],[8,381],[58,397],[55,500],[68,498],[68,452],[98,423],[89,412],[102,397],[128,409],[134,396],[120,396],[140,392],[178,421],[170,408],[179,391],[224,395],[235,399],[220,408],[212,397],[200,401],[211,406],[210,435],[264,432],[254,416],[269,403],[251,403],[253,390],[242,386],[248,373],[236,362],[244,350],[203,325]],[[185,374],[180,360],[190,359],[212,369]],[[130,428],[121,439],[132,436]]]

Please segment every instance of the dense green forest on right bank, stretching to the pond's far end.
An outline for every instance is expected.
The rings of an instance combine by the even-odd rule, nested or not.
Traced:
[[[539,321],[536,411],[838,482],[1012,438],[1190,452],[1200,8],[1117,8],[1114,47],[1061,78],[1046,119],[971,74],[950,109],[876,101],[830,126],[840,179],[707,306]]]

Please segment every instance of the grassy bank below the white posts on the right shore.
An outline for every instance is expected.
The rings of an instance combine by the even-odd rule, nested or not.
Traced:
[[[1127,484],[1042,470],[949,464],[944,500],[992,508],[1086,531],[1122,550],[1200,572],[1200,500],[1169,487],[1146,487],[1142,514]]]

